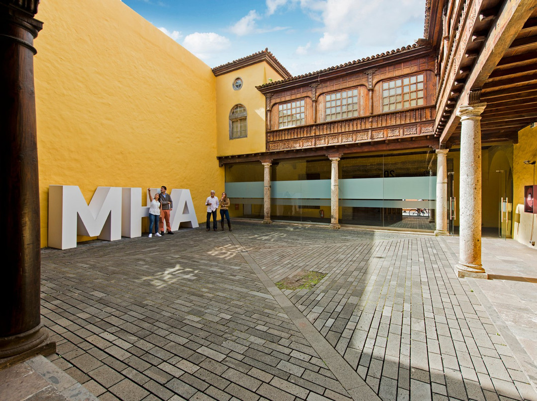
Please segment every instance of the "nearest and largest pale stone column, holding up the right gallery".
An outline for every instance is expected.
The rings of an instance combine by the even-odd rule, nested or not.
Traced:
[[[481,113],[487,103],[462,106],[459,200],[459,277],[487,278],[481,264]]]

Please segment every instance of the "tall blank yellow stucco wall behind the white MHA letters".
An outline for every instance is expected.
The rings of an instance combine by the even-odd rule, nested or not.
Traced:
[[[41,246],[51,184],[88,202],[98,186],[141,187],[142,204],[147,187],[188,188],[205,221],[224,187],[209,66],[119,0],[47,0],[36,18]]]

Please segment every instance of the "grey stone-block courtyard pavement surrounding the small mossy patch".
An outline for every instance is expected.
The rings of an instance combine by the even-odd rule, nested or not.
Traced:
[[[537,400],[429,235],[241,222],[42,251],[49,357],[108,400]],[[325,273],[313,289],[274,283]]]

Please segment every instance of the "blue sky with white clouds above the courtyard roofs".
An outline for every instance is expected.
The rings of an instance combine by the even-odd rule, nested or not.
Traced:
[[[425,16],[425,0],[122,1],[211,67],[269,48],[292,75],[412,44]]]

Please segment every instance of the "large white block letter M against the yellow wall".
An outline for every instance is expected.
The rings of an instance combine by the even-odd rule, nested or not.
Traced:
[[[121,239],[121,188],[97,187],[90,204],[76,185],[48,187],[48,246],[76,247],[76,236]]]

